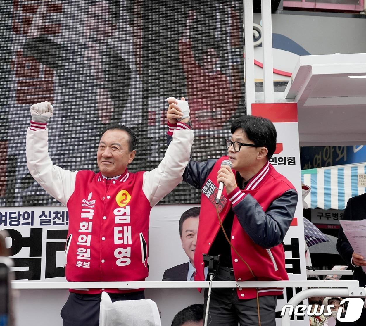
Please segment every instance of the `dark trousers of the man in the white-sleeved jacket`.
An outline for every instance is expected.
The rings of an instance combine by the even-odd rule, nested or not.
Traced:
[[[112,302],[145,299],[143,291],[131,293],[108,293]],[[70,292],[61,310],[64,326],[99,326],[100,294]]]

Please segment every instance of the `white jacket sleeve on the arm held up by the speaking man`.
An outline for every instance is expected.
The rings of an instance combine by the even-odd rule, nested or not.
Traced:
[[[145,172],[142,190],[150,205],[154,206],[164,196],[169,194],[183,180],[193,143],[193,130],[179,130],[173,132],[170,143],[163,160],[156,169]]]

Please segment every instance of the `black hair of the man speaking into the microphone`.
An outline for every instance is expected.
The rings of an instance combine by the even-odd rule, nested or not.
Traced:
[[[258,147],[266,147],[268,150],[268,160],[276,151],[277,131],[272,121],[257,116],[242,116],[231,124],[231,134],[237,129],[242,129],[251,140]]]

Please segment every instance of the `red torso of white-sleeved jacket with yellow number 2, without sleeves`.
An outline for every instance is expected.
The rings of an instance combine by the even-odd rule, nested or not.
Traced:
[[[151,206],[142,191],[143,172],[126,170],[119,180],[110,182],[107,187],[101,173],[76,174],[75,191],[67,202],[68,281],[143,281],[148,275]],[[89,289],[87,293],[101,292]]]

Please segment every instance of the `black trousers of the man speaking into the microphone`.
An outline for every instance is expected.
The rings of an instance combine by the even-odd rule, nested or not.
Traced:
[[[208,277],[209,279],[209,277]],[[235,281],[234,271],[219,267],[213,281]],[[205,312],[208,288],[205,289]],[[259,297],[259,314],[262,326],[276,325],[277,296]],[[236,288],[212,288],[208,323],[210,326],[256,326],[258,325],[257,298],[242,300]]]

